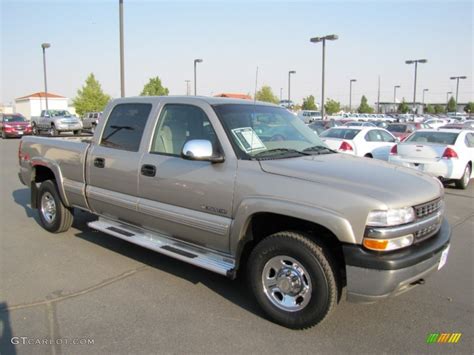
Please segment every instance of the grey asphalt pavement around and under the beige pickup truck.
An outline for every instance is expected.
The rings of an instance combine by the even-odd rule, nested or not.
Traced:
[[[18,142],[0,141],[1,354],[473,352],[474,184],[446,189],[451,252],[426,285],[374,305],[341,301],[319,327],[291,331],[264,319],[243,281],[94,232],[87,213],[67,233],[44,231],[17,179]],[[463,335],[427,345],[433,332]]]

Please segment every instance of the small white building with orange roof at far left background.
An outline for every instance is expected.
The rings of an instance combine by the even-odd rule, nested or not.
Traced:
[[[68,98],[48,92],[48,108],[50,110],[67,110]],[[39,116],[41,110],[46,110],[46,95],[44,92],[35,92],[34,94],[15,99],[15,112],[21,113],[28,120],[32,116]]]

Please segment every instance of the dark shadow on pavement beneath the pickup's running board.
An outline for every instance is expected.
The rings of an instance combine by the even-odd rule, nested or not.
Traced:
[[[145,249],[138,245],[128,243],[122,239],[114,238],[102,232],[92,230],[87,226],[87,222],[96,219],[97,217],[90,213],[76,211],[74,216],[74,227],[80,230],[80,232],[76,233],[75,236],[121,254],[127,258],[134,259],[150,266],[151,268],[161,270],[189,281],[194,285],[204,285],[209,290],[212,290],[246,311],[259,317],[264,317],[263,312],[254,300],[243,275],[240,275],[236,280],[230,280],[224,276],[186,264],[182,261]]]

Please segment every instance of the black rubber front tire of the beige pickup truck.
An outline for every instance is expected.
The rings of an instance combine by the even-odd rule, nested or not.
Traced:
[[[267,270],[270,270],[268,275],[272,273],[272,268],[268,265],[272,265],[272,261],[280,257],[296,261],[296,264],[292,265],[300,266],[299,269],[303,271],[301,274],[304,276],[300,278],[302,283],[299,285],[306,284],[309,288],[304,298],[301,297],[303,300],[299,301],[301,302],[299,307],[302,308],[298,308],[297,305],[299,293],[295,298],[297,308],[288,310],[282,309],[281,307],[284,306],[281,304],[277,305],[280,284],[275,288],[277,292],[270,292],[269,295],[266,293],[268,290],[265,291],[264,277],[267,275]],[[277,280],[285,282],[283,279],[290,277],[285,267],[287,265],[284,265],[280,272],[273,272],[275,281],[272,282],[276,283]],[[281,277],[278,278],[277,275]],[[257,244],[249,257],[248,279],[257,302],[268,317],[275,323],[292,329],[310,328],[322,322],[335,308],[339,298],[340,276],[333,256],[325,246],[298,232],[279,232]],[[270,280],[270,278],[266,279]],[[317,285],[317,287],[312,285]],[[288,287],[288,284],[285,287]],[[280,292],[282,298],[287,295],[288,293],[285,294],[284,291]],[[309,299],[305,300],[308,295]],[[290,294],[290,296],[293,295]]]

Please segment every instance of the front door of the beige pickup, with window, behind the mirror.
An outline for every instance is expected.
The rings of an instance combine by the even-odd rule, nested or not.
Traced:
[[[167,236],[227,252],[237,161],[232,154],[218,164],[181,158],[192,139],[209,140],[223,152],[214,129],[220,123],[208,105],[168,102],[140,163],[142,222]]]

